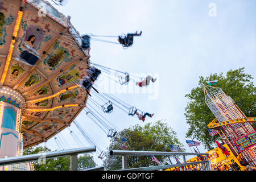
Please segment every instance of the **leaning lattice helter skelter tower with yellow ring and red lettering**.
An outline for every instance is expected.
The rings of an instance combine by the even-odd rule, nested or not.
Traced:
[[[253,142],[256,140],[256,133],[250,123],[255,122],[255,118],[247,118],[232,98],[220,88],[205,86],[204,93],[205,103],[216,117],[208,127],[217,128],[241,164],[255,167],[256,144]]]

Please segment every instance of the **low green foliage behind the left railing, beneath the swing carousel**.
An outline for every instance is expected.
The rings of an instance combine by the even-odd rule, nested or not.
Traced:
[[[30,147],[24,150],[23,155],[38,154],[39,152],[51,152],[47,147]],[[34,162],[35,171],[69,171],[70,170],[70,156],[63,156],[59,158],[47,159],[46,164],[40,164],[38,161]],[[78,170],[82,171],[88,168],[96,167],[93,156],[80,155],[77,159]]]

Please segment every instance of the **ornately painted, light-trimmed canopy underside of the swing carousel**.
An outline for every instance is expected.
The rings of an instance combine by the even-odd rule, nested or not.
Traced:
[[[46,7],[44,15],[40,7]],[[76,82],[89,64],[89,50],[80,48],[79,32],[68,28],[67,17],[41,0],[0,1],[0,74],[10,52],[20,7],[22,18],[3,86],[17,90],[26,100],[22,113],[24,148],[43,142],[69,126],[85,106],[88,93]],[[7,34],[8,32],[8,34]],[[11,32],[11,33],[9,33]],[[61,34],[60,34],[61,33]],[[38,61],[28,64],[20,55],[32,48]]]

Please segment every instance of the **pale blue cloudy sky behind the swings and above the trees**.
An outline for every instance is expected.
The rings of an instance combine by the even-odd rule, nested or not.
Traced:
[[[216,5],[216,16],[209,16],[210,3]],[[137,88],[137,93],[116,93],[118,85],[114,85],[117,97],[155,114],[142,123],[116,108],[106,118],[121,130],[166,119],[187,152],[191,152],[185,143],[188,125],[184,117],[187,104],[184,96],[197,86],[199,76],[245,67],[245,72],[255,78],[256,1],[72,0],[64,7],[55,7],[64,15],[71,15],[71,23],[80,34],[120,35],[142,30],[142,36],[135,37],[133,47],[127,50],[117,44],[91,42],[90,60],[94,63],[158,78],[143,92]],[[106,84],[106,80],[100,79],[96,84]],[[131,90],[135,89],[133,84],[129,84]],[[100,127],[84,112],[77,121],[97,145],[106,150],[109,138]],[[82,139],[75,126],[72,125],[71,130]],[[62,135],[70,147],[78,147],[68,129]],[[46,145],[56,149],[53,139]],[[203,146],[198,148],[200,152],[207,151]],[[97,157],[95,160],[100,165]]]

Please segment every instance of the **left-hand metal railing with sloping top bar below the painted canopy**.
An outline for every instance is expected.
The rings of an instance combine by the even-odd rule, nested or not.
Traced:
[[[53,151],[48,153],[40,153],[40,154],[32,154],[32,155],[23,155],[23,156],[15,156],[10,158],[0,159],[0,166],[8,166],[10,164],[19,164],[32,162],[35,160],[44,160],[50,158],[57,158],[61,156],[71,156],[71,171],[77,171],[77,155],[85,154],[89,152],[95,152],[96,146],[93,147],[82,147],[82,148],[73,148],[69,150],[61,150],[61,151]]]

